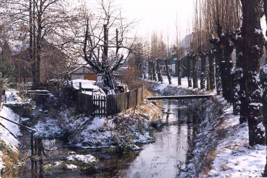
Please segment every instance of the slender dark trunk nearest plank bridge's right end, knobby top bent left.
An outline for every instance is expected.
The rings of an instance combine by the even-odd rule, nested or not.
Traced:
[[[221,61],[223,60],[223,49],[221,46],[221,42],[219,39],[215,38],[213,35],[211,35],[209,42],[215,47],[215,65],[216,65],[216,90],[217,94],[220,95],[223,88],[222,88],[222,63]]]

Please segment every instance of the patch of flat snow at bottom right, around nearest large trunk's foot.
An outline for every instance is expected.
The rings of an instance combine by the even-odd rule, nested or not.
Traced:
[[[230,126],[227,126],[227,123]],[[225,124],[229,128],[227,137],[217,146],[217,156],[208,176],[211,178],[262,177],[266,164],[266,146],[248,146],[248,124],[239,125],[238,117],[231,117]]]

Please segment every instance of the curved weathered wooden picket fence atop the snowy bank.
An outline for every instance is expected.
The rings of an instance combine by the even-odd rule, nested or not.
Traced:
[[[89,115],[111,116],[137,106],[144,100],[144,97],[144,87],[106,96],[79,92],[78,107],[81,112]]]

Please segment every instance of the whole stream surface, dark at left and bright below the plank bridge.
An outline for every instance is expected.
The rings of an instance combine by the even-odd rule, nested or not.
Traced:
[[[23,132],[20,178],[175,178],[185,166],[186,152],[197,132],[197,121],[185,106],[174,102],[163,104],[164,127],[154,132],[156,141],[143,145],[143,150],[117,154],[108,150],[78,150],[69,147],[64,140],[42,140],[42,156],[31,156],[31,136]],[[61,161],[68,151],[92,154],[99,159],[93,166],[73,171],[62,167],[45,170],[47,164]],[[28,158],[28,159],[27,159]]]

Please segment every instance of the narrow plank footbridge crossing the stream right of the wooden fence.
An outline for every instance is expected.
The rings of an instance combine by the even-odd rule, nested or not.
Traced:
[[[175,95],[175,96],[153,96],[147,97],[148,100],[171,100],[171,99],[209,99],[213,94],[205,95]]]

